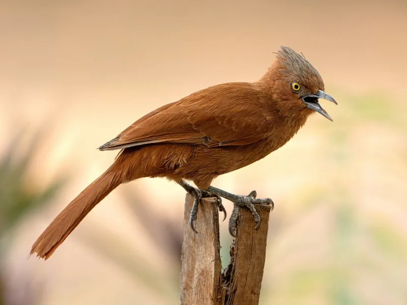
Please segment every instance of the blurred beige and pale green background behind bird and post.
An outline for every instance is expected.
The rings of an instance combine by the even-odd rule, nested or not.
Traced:
[[[164,179],[120,186],[48,261],[27,254],[117,154],[96,147],[198,89],[257,80],[280,45],[339,105],[214,181],[276,204],[260,303],[406,304],[406,32],[404,0],[2,1],[0,304],[178,304],[185,192]]]

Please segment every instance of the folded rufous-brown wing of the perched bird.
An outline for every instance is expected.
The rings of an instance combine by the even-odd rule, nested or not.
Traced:
[[[143,116],[100,150],[152,143],[246,145],[264,138],[270,120],[259,108],[250,83],[228,83],[200,90]]]

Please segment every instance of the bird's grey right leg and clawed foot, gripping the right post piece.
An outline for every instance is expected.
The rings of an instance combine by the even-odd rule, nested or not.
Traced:
[[[274,202],[270,198],[264,198],[264,199],[256,199],[257,193],[256,191],[250,192],[248,196],[239,196],[235,194],[231,194],[228,192],[225,192],[223,190],[220,190],[218,188],[210,186],[207,191],[217,194],[227,200],[230,200],[234,204],[234,208],[232,211],[232,215],[230,216],[229,219],[229,233],[233,237],[236,236],[236,221],[238,219],[238,214],[239,214],[239,209],[240,207],[247,207],[251,213],[253,214],[254,221],[256,222],[255,229],[257,229],[260,225],[260,216],[258,215],[256,209],[254,208],[254,203],[256,204],[271,204],[271,209],[274,208]]]

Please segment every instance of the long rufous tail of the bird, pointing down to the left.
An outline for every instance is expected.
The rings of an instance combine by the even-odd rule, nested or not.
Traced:
[[[114,164],[99,178],[84,189],[68,206],[51,222],[38,237],[30,255],[47,259],[76,228],[81,220],[111,191],[122,183],[123,175],[114,170]]]

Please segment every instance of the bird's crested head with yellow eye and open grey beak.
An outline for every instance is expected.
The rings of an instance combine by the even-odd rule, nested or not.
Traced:
[[[324,92],[321,75],[302,54],[288,47],[281,47],[269,76],[272,78],[273,99],[279,101],[280,110],[304,116],[316,111],[332,120],[318,99],[337,103]]]

